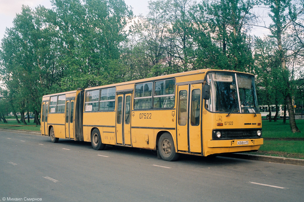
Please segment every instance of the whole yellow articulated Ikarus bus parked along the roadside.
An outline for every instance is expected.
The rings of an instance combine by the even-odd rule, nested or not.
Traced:
[[[254,75],[202,69],[43,96],[41,134],[156,150],[163,160],[257,151]]]

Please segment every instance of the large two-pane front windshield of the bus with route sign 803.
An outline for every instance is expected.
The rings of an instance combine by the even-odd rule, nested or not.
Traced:
[[[210,72],[210,99],[206,108],[213,112],[258,113],[254,77],[238,73]]]

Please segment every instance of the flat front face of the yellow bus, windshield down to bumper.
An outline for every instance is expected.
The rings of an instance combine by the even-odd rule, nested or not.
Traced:
[[[257,151],[263,138],[254,75],[209,71],[205,85],[204,156]]]

